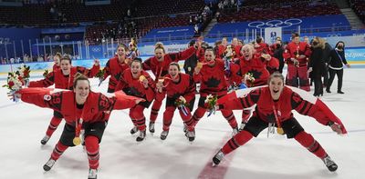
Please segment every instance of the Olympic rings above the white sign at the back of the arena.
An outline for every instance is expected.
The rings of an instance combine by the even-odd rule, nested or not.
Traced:
[[[303,21],[301,19],[292,18],[287,19],[285,21],[282,20],[270,20],[265,22],[262,21],[254,21],[248,24],[249,27],[252,28],[266,28],[266,27],[289,27],[292,25],[300,25]]]

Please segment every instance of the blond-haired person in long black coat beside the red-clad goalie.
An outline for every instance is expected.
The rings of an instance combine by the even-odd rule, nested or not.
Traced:
[[[323,95],[322,86],[322,75],[325,72],[325,62],[323,59],[323,52],[325,49],[324,40],[316,36],[310,45],[310,50],[312,54],[310,55],[308,64],[308,73],[310,73],[310,78],[314,81],[314,96]]]

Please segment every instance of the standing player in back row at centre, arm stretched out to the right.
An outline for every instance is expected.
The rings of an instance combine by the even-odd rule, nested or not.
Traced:
[[[186,50],[179,53],[166,54],[165,48],[162,43],[157,43],[154,48],[154,56],[145,60],[142,64],[143,70],[151,70],[155,76],[155,81],[157,82],[159,78],[168,74],[169,65],[172,62],[178,62],[180,60],[185,60],[191,55],[196,53],[196,49],[200,48],[202,45],[201,40],[197,40],[195,45],[187,48]],[[149,130],[154,133],[154,123],[156,122],[157,115],[159,114],[162,101],[154,100],[151,108],[150,114],[150,124]]]

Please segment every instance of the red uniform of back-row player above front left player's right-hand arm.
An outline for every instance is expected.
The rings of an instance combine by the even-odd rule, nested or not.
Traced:
[[[107,62],[107,65],[105,65],[105,68],[103,69],[104,79],[106,79],[110,75],[108,93],[114,93],[115,91],[120,90],[116,89],[117,85],[119,85],[121,89],[126,87],[125,84],[119,84],[120,76],[122,76],[124,71],[129,67],[130,66],[127,65],[125,62],[119,62],[118,55],[110,58],[110,60]]]

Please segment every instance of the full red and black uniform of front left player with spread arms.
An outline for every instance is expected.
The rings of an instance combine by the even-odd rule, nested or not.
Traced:
[[[35,91],[38,91],[35,93]],[[107,97],[104,94],[90,92],[85,104],[79,105],[75,101],[75,93],[63,91],[49,94],[49,90],[26,88],[20,90],[22,101],[47,107],[63,114],[65,127],[61,137],[55,146],[51,159],[57,161],[68,146],[75,146],[73,139],[76,135],[77,124],[82,124],[85,130],[85,147],[89,158],[89,168],[99,167],[99,143],[108,122],[110,111],[114,109],[126,109],[135,105],[135,97]],[[80,122],[82,119],[82,123]],[[50,168],[45,170],[49,170]]]

